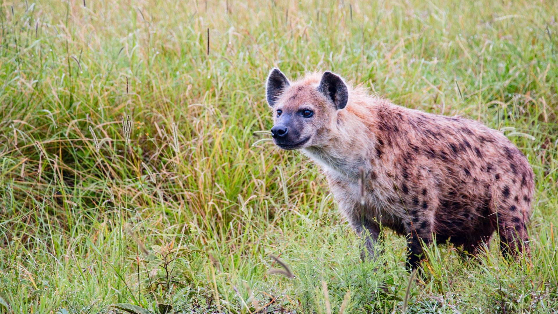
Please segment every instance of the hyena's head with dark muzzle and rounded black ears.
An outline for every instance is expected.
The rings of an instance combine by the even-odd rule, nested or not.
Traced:
[[[321,80],[291,84],[279,69],[267,77],[267,103],[273,110],[273,142],[292,150],[321,146],[329,140],[330,125],[349,98],[347,85],[338,75],[325,72]]]

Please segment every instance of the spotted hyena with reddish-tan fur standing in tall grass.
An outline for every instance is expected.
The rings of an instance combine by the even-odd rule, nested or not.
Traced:
[[[475,254],[494,231],[504,253],[528,250],[534,176],[501,132],[396,106],[331,72],[291,83],[273,69],[266,96],[273,141],[320,165],[368,256],[380,226],[407,236],[408,268],[424,244],[450,241]]]

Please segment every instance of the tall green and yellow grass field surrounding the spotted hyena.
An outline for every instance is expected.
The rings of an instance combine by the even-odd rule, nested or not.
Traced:
[[[0,312],[557,311],[556,3],[0,4]],[[531,256],[433,247],[410,279],[384,230],[362,263],[319,169],[265,132],[273,66],[504,132],[535,171]]]

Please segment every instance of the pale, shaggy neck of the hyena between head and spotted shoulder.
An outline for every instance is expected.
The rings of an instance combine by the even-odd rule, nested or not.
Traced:
[[[375,164],[370,153],[371,147],[373,151],[371,144],[375,144],[374,136],[368,134],[369,127],[351,112],[345,112],[337,120],[330,127],[326,144],[302,151],[329,174],[357,182],[360,168],[368,170]]]

